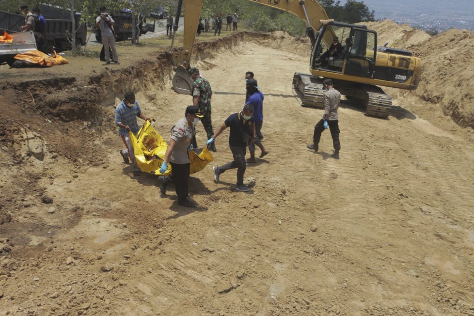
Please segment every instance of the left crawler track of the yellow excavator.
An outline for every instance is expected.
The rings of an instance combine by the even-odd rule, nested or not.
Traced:
[[[295,72],[293,93],[301,106],[324,109],[322,78]]]

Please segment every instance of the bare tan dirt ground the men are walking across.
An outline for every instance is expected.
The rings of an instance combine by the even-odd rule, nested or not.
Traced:
[[[196,62],[214,91],[214,128],[241,109],[245,71],[265,95],[270,154],[248,165],[248,194],[235,190],[235,171],[213,181],[210,167],[232,158],[227,131],[215,160],[191,177],[201,207],[190,211],[172,186],[160,196],[155,176],[134,177],[123,163],[118,99],[104,101],[101,126],[35,129],[30,147],[41,141],[43,160],[0,171],[1,211],[11,214],[0,225],[0,313],[474,315],[472,130],[411,95],[398,95],[401,108],[387,120],[343,101],[341,159],[330,157],[329,132],[318,153],[309,151],[323,111],[293,97],[293,73],[308,71],[307,56],[271,48],[278,41],[298,46],[222,41]],[[126,75],[168,138],[190,97],[169,80]],[[10,95],[0,95],[6,113],[14,113]],[[13,145],[2,142],[4,162],[25,150],[10,125],[16,135]],[[202,146],[202,126],[197,133]]]

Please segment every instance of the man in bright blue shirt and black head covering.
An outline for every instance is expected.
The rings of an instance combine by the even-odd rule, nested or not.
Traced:
[[[255,145],[262,150],[260,158],[264,157],[269,153],[265,149],[265,146],[262,144],[261,139],[263,135],[261,133],[263,125],[263,93],[260,91],[260,88],[257,85],[257,80],[247,79],[247,94],[250,95],[245,104],[253,105],[253,122],[255,125],[255,135],[257,138],[255,142],[249,143],[250,158],[247,159],[247,163],[255,162]]]

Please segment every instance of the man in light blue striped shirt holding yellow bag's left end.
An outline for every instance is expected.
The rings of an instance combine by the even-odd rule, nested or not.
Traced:
[[[128,158],[130,158],[133,166],[133,175],[140,175],[142,173],[140,167],[137,165],[135,153],[130,144],[130,136],[128,134],[128,132],[131,131],[136,136],[140,130],[140,126],[138,126],[137,123],[137,116],[142,120],[151,121],[151,118],[143,115],[142,109],[140,109],[138,102],[135,100],[135,94],[131,91],[126,92],[122,102],[115,108],[115,125],[119,127],[119,135],[126,146],[126,149],[120,151],[120,155],[122,155],[125,163],[128,163]]]

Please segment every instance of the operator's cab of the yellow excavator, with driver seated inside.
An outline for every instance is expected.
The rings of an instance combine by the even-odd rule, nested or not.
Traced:
[[[330,46],[329,43],[332,45]],[[376,32],[367,30],[362,25],[329,22],[323,25],[317,34],[311,68],[371,77],[375,71],[376,53]]]

